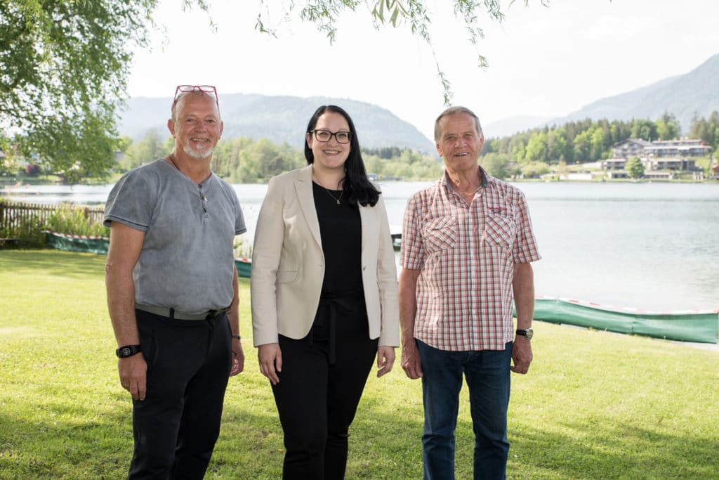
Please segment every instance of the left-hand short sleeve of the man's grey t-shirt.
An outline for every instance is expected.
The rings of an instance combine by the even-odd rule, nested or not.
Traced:
[[[157,202],[157,185],[152,175],[136,168],[117,181],[107,197],[103,224],[110,227],[119,222],[141,232],[147,232]]]

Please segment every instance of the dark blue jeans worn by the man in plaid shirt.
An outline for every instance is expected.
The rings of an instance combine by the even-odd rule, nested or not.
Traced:
[[[454,479],[462,373],[470,388],[475,479],[504,479],[509,453],[507,409],[512,343],[504,350],[450,352],[417,340],[422,361],[424,479]]]

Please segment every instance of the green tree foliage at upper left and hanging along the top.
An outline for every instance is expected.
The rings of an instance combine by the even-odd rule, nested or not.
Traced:
[[[182,0],[181,5],[207,10],[210,3]],[[529,0],[523,3],[527,6]],[[12,158],[32,156],[69,182],[109,171],[115,151],[122,147],[116,111],[127,96],[132,48],[147,45],[157,4],[158,0],[0,1],[0,150],[7,155],[0,168],[9,168]],[[272,33],[265,26],[270,5],[282,11],[283,19],[299,12],[302,21],[326,32],[330,42],[339,17],[366,6],[375,27],[408,27],[432,46],[431,14],[421,0],[261,0],[256,27]],[[452,7],[474,45],[484,37],[480,17],[504,19],[500,0],[452,0]],[[482,55],[478,61],[486,65]],[[449,104],[451,87],[439,62],[437,71]]]

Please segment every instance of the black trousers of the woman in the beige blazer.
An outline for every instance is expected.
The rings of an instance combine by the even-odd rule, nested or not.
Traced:
[[[339,311],[321,302],[310,334],[280,335],[280,350],[273,393],[285,433],[283,479],[343,479],[349,425],[377,353],[364,300]]]

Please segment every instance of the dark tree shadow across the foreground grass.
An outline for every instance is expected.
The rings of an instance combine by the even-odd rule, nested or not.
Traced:
[[[260,401],[266,414],[245,402]],[[34,419],[0,412],[1,478],[122,478],[132,454],[130,406],[122,393],[108,398],[98,415],[92,406],[60,402]],[[385,411],[365,404],[350,430],[347,479],[421,478],[422,421],[414,407]],[[108,407],[108,405],[104,405]],[[255,404],[254,407],[257,407]],[[52,415],[45,415],[52,412]],[[42,417],[42,421],[37,418]],[[68,417],[71,420],[67,420]],[[65,420],[58,420],[64,418]],[[716,474],[716,443],[691,435],[603,422],[560,422],[567,434],[511,427],[508,478],[691,478]],[[584,433],[584,435],[582,435]],[[577,440],[580,438],[581,440]],[[472,424],[457,426],[457,478],[471,478]],[[261,398],[226,402],[220,439],[207,478],[274,479],[281,474],[282,431],[274,405]],[[694,463],[687,463],[686,459]],[[700,461],[696,461],[696,459]],[[714,477],[715,478],[715,477]]]

